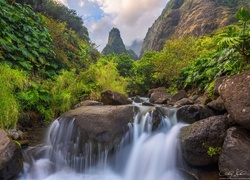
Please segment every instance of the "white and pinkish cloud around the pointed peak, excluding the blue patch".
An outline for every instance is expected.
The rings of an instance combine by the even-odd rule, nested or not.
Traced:
[[[91,40],[100,45],[102,50],[107,43],[108,33],[112,27],[120,30],[122,39],[126,45],[130,45],[135,39],[143,39],[147,30],[159,17],[166,0],[88,0],[98,3],[100,9],[106,15],[104,19],[91,22],[88,27]],[[105,23],[104,23],[105,22]],[[93,26],[93,23],[96,23]],[[101,36],[105,38],[101,38]]]

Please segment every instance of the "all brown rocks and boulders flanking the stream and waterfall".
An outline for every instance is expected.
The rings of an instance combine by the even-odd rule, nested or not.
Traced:
[[[213,92],[202,96],[188,95],[184,90],[172,95],[166,93],[165,88],[157,88],[150,90],[148,97],[149,102],[142,102],[138,97],[133,100],[152,107],[153,127],[160,121],[159,105],[176,107],[177,119],[190,124],[181,129],[180,147],[189,166],[187,171],[197,179],[206,179],[199,172],[212,173],[213,179],[250,178],[250,72],[217,79]],[[102,93],[102,102],[79,103],[59,120],[75,119],[83,137],[82,144],[91,143],[94,152],[100,150],[100,145],[112,150],[128,131],[127,124],[136,111],[131,103],[126,97],[108,90]],[[21,132],[19,137],[14,134],[9,133],[9,137],[23,138]],[[1,154],[15,152],[0,159],[0,177],[9,179],[22,169],[21,149],[4,131],[0,137]],[[18,163],[12,168],[13,162]]]

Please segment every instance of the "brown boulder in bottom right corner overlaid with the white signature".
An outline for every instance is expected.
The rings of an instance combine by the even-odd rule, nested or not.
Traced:
[[[250,131],[232,127],[227,135],[219,159],[220,175],[228,179],[250,179]]]

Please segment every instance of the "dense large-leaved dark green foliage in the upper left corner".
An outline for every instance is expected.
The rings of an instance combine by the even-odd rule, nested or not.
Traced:
[[[30,7],[0,1],[0,49],[2,64],[37,74],[55,70],[52,39],[41,16]]]

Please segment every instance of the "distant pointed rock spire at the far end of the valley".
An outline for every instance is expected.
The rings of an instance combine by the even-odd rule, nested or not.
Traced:
[[[122,54],[122,53],[128,53],[131,55],[132,59],[138,59],[135,52],[131,49],[128,51],[126,50],[126,47],[123,43],[123,40],[121,38],[121,34],[119,29],[113,28],[109,32],[109,38],[108,38],[108,44],[104,47],[102,50],[102,54],[108,55],[108,54]]]

